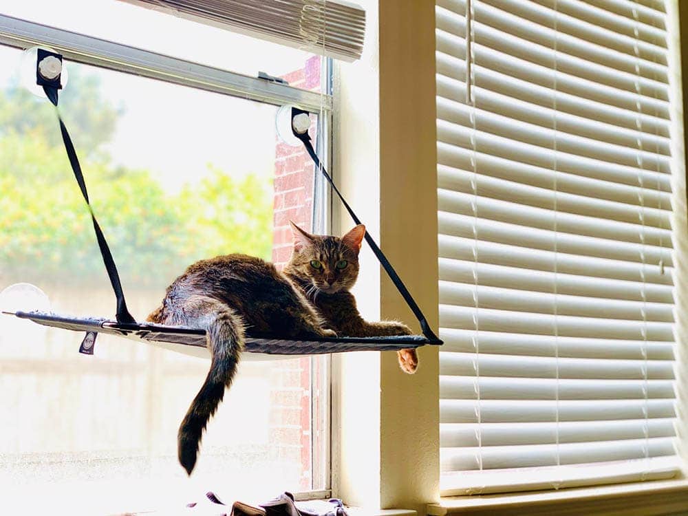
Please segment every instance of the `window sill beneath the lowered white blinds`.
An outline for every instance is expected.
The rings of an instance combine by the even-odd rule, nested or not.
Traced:
[[[517,515],[669,515],[688,510],[688,480],[656,480],[561,491],[443,497],[429,504],[432,516]]]

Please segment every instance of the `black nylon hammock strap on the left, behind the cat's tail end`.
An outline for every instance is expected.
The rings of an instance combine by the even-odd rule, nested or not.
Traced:
[[[116,319],[118,323],[136,323],[129,310],[127,310],[127,302],[125,301],[125,294],[122,292],[122,283],[120,282],[120,275],[117,272],[117,266],[112,258],[112,253],[110,248],[107,246],[107,241],[105,240],[105,235],[103,235],[103,230],[100,229],[100,224],[96,220],[96,215],[93,212],[91,203],[88,198],[88,191],[86,189],[86,181],[84,180],[83,173],[81,172],[81,166],[79,160],[76,157],[76,151],[74,150],[74,144],[72,143],[72,138],[69,137],[69,132],[67,127],[62,121],[59,111],[57,111],[58,102],[58,89],[52,85],[43,85],[43,91],[45,95],[50,100],[52,105],[55,106],[57,118],[60,121],[60,132],[62,133],[62,141],[65,144],[65,150],[67,151],[67,158],[69,158],[69,164],[72,165],[72,171],[74,171],[74,178],[79,185],[81,194],[86,201],[86,206],[91,214],[91,219],[93,221],[93,228],[96,232],[96,239],[98,240],[98,247],[100,248],[100,255],[103,256],[103,263],[107,269],[107,275],[110,278],[110,283],[112,285],[112,290],[115,291],[115,296],[117,298],[117,314]]]

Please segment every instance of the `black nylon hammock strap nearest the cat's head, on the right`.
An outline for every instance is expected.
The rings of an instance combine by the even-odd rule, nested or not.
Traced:
[[[302,113],[308,114],[308,111],[303,111],[302,109],[299,109],[297,107],[292,107],[292,120],[294,119],[294,116],[297,116],[297,115],[302,114]],[[293,126],[292,126],[292,133],[294,133],[294,136],[296,136],[297,138],[299,138],[299,140],[301,140],[301,142],[303,142],[303,146],[305,147],[306,151],[308,151],[308,154],[310,155],[313,162],[315,163],[316,169],[321,171],[323,176],[325,176],[325,179],[327,180],[328,183],[330,183],[330,186],[332,186],[332,190],[334,191],[334,193],[337,194],[337,197],[339,197],[339,200],[341,200],[342,204],[346,208],[346,211],[349,212],[349,215],[351,215],[351,218],[354,219],[354,222],[356,224],[363,224],[361,222],[361,219],[359,219],[356,216],[356,213],[354,213],[354,210],[352,209],[352,207],[349,206],[349,203],[346,202],[345,198],[340,193],[339,189],[336,187],[336,184],[334,184],[334,181],[332,181],[330,174],[328,174],[327,171],[325,170],[325,167],[323,166],[322,162],[320,161],[320,158],[318,158],[318,155],[316,154],[315,149],[313,149],[313,144],[310,142],[310,135],[308,134],[308,131],[305,131],[305,133],[300,134],[300,133],[297,133],[297,131],[295,131]],[[411,292],[409,292],[409,289],[406,288],[406,286],[404,285],[404,282],[401,281],[401,278],[396,273],[396,270],[394,270],[394,267],[392,267],[391,264],[389,263],[389,260],[385,256],[385,253],[378,247],[378,244],[376,244],[373,237],[371,237],[367,231],[365,232],[365,241],[367,241],[367,243],[370,246],[370,248],[372,249],[374,255],[380,261],[380,265],[383,266],[383,269],[385,269],[385,272],[387,272],[389,279],[391,279],[392,283],[394,283],[394,286],[396,286],[396,289],[399,291],[401,296],[404,298],[404,301],[406,301],[406,304],[409,305],[409,308],[411,308],[411,312],[413,312],[413,315],[415,315],[416,319],[418,319],[418,323],[420,323],[420,330],[423,332],[423,335],[425,336],[425,338],[427,338],[431,344],[441,344],[442,341],[440,341],[440,339],[435,334],[435,332],[433,332],[432,328],[428,324],[427,319],[425,319],[425,316],[424,316],[422,310],[420,310],[418,303],[416,303],[416,300],[413,299],[413,296],[411,296]]]

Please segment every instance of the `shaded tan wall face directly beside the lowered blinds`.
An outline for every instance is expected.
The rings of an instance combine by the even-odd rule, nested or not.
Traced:
[[[438,327],[435,2],[381,0],[380,239],[431,327]],[[413,321],[381,281],[383,319]],[[418,324],[414,325],[418,330]],[[418,508],[439,495],[438,348],[419,350],[413,376],[382,356],[381,502]]]

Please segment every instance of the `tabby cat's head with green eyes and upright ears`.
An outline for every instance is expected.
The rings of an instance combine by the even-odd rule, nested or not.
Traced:
[[[308,293],[334,294],[349,290],[358,277],[358,251],[365,226],[356,226],[343,237],[310,235],[293,222],[294,251],[290,272],[310,282]]]

